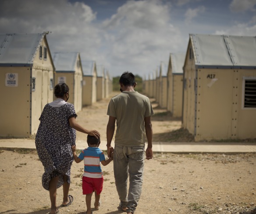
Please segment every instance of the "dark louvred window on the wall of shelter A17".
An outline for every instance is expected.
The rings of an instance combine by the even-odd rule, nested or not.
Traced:
[[[244,79],[244,108],[256,108],[256,78]]]

